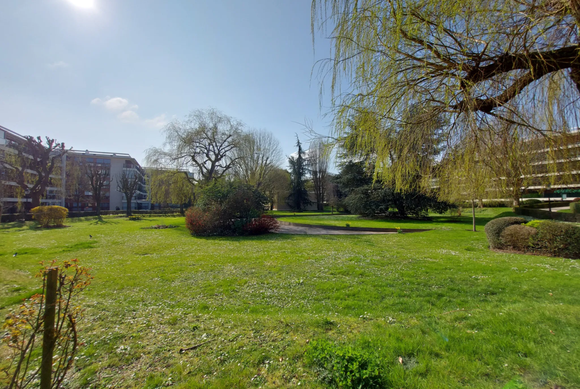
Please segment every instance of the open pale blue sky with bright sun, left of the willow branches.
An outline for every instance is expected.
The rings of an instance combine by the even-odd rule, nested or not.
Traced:
[[[197,108],[271,130],[287,155],[295,122],[328,131],[311,71],[329,46],[313,50],[311,0],[74,4],[86,1],[2,3],[0,125],[139,161]]]

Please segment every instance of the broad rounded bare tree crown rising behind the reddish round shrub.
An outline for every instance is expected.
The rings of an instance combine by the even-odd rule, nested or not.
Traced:
[[[161,147],[147,150],[152,168],[187,170],[192,184],[219,179],[234,168],[235,149],[244,124],[218,110],[195,110],[183,121],[173,121],[165,129]]]

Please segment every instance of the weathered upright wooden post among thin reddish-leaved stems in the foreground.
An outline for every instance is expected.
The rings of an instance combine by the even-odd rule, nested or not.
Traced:
[[[56,289],[59,268],[52,267],[46,272],[46,296],[44,308],[44,333],[42,334],[42,362],[40,388],[52,386],[52,354],[55,348]]]

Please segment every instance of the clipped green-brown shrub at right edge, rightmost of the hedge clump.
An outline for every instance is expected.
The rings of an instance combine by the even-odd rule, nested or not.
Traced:
[[[542,221],[531,238],[535,252],[561,257],[580,257],[580,228],[569,223]]]

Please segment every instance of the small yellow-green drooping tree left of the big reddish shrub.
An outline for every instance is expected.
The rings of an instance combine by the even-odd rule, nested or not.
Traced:
[[[194,186],[187,175],[188,172],[179,170],[147,169],[147,191],[151,202],[179,204],[183,215],[183,205],[193,201],[194,197]]]

